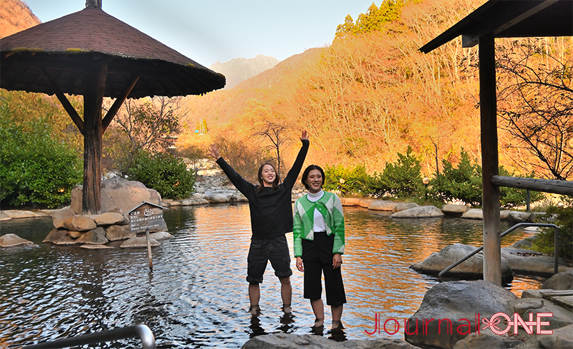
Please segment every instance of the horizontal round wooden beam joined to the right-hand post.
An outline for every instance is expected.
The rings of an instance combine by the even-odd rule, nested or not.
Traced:
[[[573,181],[494,175],[490,177],[489,183],[493,186],[507,186],[509,188],[529,189],[530,191],[573,196]]]

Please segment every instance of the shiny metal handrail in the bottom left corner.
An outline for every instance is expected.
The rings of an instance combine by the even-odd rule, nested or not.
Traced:
[[[140,324],[135,326],[110,329],[102,332],[82,334],[81,336],[76,336],[66,339],[58,339],[57,341],[33,344],[31,346],[24,346],[22,347],[22,349],[31,349],[31,348],[61,349],[72,346],[84,346],[86,344],[117,341],[118,339],[128,339],[135,337],[141,339],[142,349],[157,348],[155,344],[155,337],[153,332],[151,332],[151,329],[149,329],[149,327],[147,327],[146,325]]]

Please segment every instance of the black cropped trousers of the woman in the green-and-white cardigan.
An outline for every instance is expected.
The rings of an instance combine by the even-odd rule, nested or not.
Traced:
[[[341,267],[332,267],[334,234],[315,232],[313,240],[302,240],[302,262],[304,263],[304,295],[315,301],[322,297],[322,273],[325,274],[327,305],[339,306],[346,303]]]

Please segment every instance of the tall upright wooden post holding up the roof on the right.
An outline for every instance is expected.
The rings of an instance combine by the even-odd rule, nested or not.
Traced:
[[[482,128],[482,207],[484,281],[501,285],[500,189],[489,178],[499,174],[495,38],[479,38],[479,107]]]

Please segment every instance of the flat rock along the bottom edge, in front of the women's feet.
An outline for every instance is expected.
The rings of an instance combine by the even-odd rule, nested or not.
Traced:
[[[241,349],[418,349],[401,339],[379,338],[372,340],[351,339],[350,341],[333,341],[313,334],[276,333],[255,336],[249,339]]]

